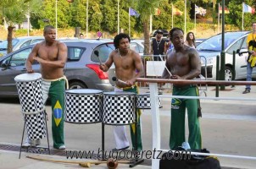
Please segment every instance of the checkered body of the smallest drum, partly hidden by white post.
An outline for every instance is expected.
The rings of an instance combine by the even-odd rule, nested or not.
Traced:
[[[161,108],[161,100],[159,98],[159,108]],[[138,109],[151,109],[149,93],[136,94],[136,108]]]

